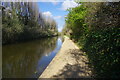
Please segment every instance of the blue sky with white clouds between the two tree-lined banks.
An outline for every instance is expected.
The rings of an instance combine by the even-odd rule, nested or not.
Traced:
[[[68,14],[67,9],[78,6],[74,1],[65,0],[63,2],[38,2],[39,11],[46,17],[52,17],[61,32],[65,24],[65,16]]]

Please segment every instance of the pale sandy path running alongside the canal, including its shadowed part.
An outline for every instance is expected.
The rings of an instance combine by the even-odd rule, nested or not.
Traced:
[[[88,64],[84,52],[65,37],[60,51],[39,78],[88,78],[92,74]]]

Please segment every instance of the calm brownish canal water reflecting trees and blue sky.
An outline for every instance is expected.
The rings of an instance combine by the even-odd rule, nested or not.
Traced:
[[[38,78],[61,45],[54,37],[3,46],[3,78]]]

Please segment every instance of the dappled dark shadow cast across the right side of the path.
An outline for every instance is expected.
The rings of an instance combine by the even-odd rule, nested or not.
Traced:
[[[83,52],[79,49],[69,50],[68,54],[75,59],[74,64],[66,64],[61,69],[58,75],[54,75],[55,78],[90,78],[91,69],[89,68],[88,60]]]

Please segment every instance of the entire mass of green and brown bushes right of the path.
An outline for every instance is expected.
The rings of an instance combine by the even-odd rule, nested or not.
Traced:
[[[68,9],[63,33],[86,52],[97,78],[120,78],[120,2]]]

